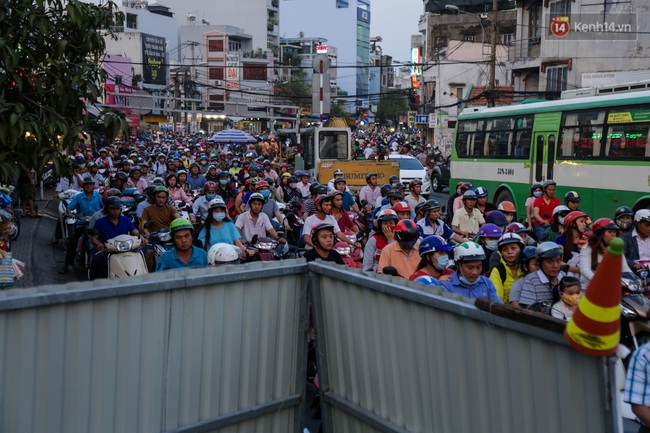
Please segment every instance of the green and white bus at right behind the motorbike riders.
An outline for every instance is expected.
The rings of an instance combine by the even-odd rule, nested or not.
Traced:
[[[484,186],[490,201],[524,217],[530,186],[553,179],[577,191],[592,219],[617,207],[650,208],[650,91],[464,110],[450,183]]]

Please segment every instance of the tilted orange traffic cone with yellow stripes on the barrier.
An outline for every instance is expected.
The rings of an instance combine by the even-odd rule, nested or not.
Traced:
[[[612,240],[564,331],[576,350],[592,356],[616,353],[621,333],[623,240]]]

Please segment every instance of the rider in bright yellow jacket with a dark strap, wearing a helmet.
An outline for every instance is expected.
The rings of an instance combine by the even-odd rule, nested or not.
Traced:
[[[496,264],[491,267],[489,278],[496,287],[499,298],[508,303],[512,284],[524,276],[519,266],[519,255],[524,249],[524,241],[516,233],[506,233],[499,238],[497,248],[499,251],[491,257],[490,264],[494,261]]]

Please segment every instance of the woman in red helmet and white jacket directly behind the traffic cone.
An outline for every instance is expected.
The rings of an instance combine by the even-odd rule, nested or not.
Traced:
[[[582,290],[587,290],[589,282],[594,276],[594,271],[603,260],[610,242],[618,237],[618,226],[609,218],[597,219],[591,227],[593,234],[589,236],[587,244],[580,249],[580,285]],[[631,272],[625,257],[623,272]]]

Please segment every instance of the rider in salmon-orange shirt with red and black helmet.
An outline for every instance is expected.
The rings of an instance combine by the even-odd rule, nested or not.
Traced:
[[[397,223],[393,235],[395,242],[388,244],[382,250],[377,272],[383,273],[386,266],[393,266],[400,276],[409,278],[420,263],[418,252],[420,230],[412,220],[407,219]]]

